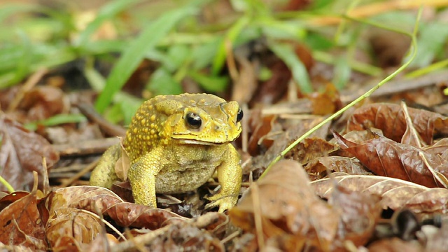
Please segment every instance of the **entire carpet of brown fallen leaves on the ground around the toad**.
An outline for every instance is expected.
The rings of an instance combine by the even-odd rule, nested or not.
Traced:
[[[321,120],[253,112],[248,149],[259,156],[252,158],[252,165],[262,171],[285,146]],[[447,237],[446,225],[431,224],[435,230],[428,232],[424,222],[448,214],[444,188],[448,140],[436,139],[447,132],[446,118],[437,113],[393,104],[361,107],[350,117],[343,136],[334,132],[334,139],[328,141],[331,126],[325,125],[295,146],[285,155],[291,160],[277,163],[251,183],[228,216],[204,214],[194,207],[202,214],[191,219],[125,202],[105,188],[73,186],[49,192],[43,186],[48,182],[41,157],[51,166],[57,154],[13,120],[3,117],[0,123],[6,126],[0,158],[8,160],[12,169],[21,169],[15,176],[37,170],[42,180],[43,190],[33,184],[31,193],[16,191],[0,198],[0,226],[6,231],[0,233],[0,242],[16,249],[347,251],[366,247],[374,251],[396,244],[406,247],[414,239],[421,240],[419,249],[437,249]],[[247,178],[258,177],[248,171]],[[32,181],[24,188],[30,188]],[[399,217],[384,218],[388,211]],[[402,213],[410,217],[401,218]],[[381,237],[378,228],[384,223],[392,229],[410,228]]]

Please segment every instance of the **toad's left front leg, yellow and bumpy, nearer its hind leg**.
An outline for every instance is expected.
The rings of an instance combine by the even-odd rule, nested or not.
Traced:
[[[127,173],[132,187],[132,195],[136,204],[157,207],[155,197],[155,176],[162,169],[160,150],[150,153],[132,162]]]

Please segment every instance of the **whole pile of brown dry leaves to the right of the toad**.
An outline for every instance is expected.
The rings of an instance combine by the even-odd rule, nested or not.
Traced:
[[[377,228],[383,223],[412,230],[392,232],[381,240],[384,244],[374,242],[374,249],[400,244],[390,239],[394,236],[422,240],[428,235],[423,229],[427,220],[448,214],[447,140],[435,139],[447,133],[446,124],[447,118],[440,114],[408,109],[404,104],[361,106],[349,117],[344,137],[333,132],[334,141],[304,139],[284,156],[296,162],[278,162],[252,183],[230,210],[231,221],[245,235],[253,235],[243,236],[251,251],[362,248],[381,239]],[[285,141],[285,137],[279,139]],[[278,143],[275,140],[265,155],[272,150],[279,153],[283,148]],[[311,186],[308,177],[314,180]],[[399,217],[394,222],[382,216],[388,211],[412,218]],[[443,227],[430,226],[443,237]],[[427,249],[429,245],[421,242],[419,246]]]

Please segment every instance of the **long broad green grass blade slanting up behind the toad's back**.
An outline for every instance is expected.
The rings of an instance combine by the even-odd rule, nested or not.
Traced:
[[[106,87],[99,95],[95,108],[99,113],[104,112],[111,103],[113,96],[123,87],[126,80],[131,76],[132,72],[139,66],[144,55],[176,25],[179,20],[187,15],[196,13],[196,8],[179,8],[162,15],[151,25],[148,25],[141,34],[130,43],[123,52],[122,57],[113,67],[109,78],[106,81]]]

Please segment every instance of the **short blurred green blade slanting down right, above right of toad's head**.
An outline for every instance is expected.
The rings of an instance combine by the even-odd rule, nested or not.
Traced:
[[[305,93],[313,91],[311,82],[302,61],[297,57],[293,48],[288,45],[276,43],[276,41],[269,41],[269,48],[285,62],[293,73],[293,79],[300,87],[300,90]]]

